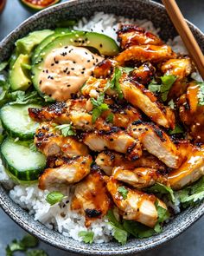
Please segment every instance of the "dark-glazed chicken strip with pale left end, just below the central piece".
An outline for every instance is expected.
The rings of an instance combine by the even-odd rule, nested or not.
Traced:
[[[114,151],[105,150],[98,154],[96,158],[97,165],[105,172],[105,174],[111,176],[113,167],[150,167],[163,172],[166,167],[162,161],[159,161],[154,155],[143,151],[142,156],[135,161],[128,161],[124,158],[123,154],[119,154]]]

